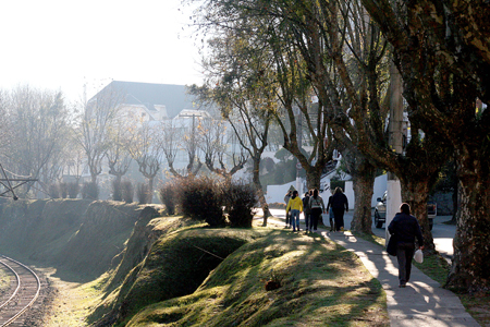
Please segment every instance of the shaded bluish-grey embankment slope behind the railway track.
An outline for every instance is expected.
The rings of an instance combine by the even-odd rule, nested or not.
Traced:
[[[107,271],[124,250],[144,206],[81,199],[0,205],[0,253],[52,265],[86,281]]]

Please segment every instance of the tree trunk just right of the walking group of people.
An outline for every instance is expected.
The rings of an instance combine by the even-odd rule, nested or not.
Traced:
[[[357,157],[357,161],[360,158]],[[372,234],[371,201],[375,186],[376,167],[366,159],[351,171],[354,187],[354,216],[351,230]]]

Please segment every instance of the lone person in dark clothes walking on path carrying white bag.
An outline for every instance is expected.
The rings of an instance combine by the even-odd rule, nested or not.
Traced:
[[[396,238],[396,259],[399,262],[399,287],[404,288],[411,279],[412,258],[415,253],[415,239],[418,241],[418,249],[424,250],[424,238],[417,218],[411,215],[411,206],[402,203],[393,220],[391,220],[388,231],[391,238]]]

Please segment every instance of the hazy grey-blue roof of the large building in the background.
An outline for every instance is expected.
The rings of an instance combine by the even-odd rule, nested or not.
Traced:
[[[121,104],[143,105],[149,112],[157,111],[155,106],[166,106],[169,118],[194,108],[193,96],[186,94],[185,85],[112,81],[89,101],[108,94],[118,94]]]

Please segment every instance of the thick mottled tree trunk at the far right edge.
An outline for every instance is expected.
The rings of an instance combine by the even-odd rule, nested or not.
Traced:
[[[490,173],[488,140],[456,146],[460,213],[448,284],[470,292],[490,289]]]

